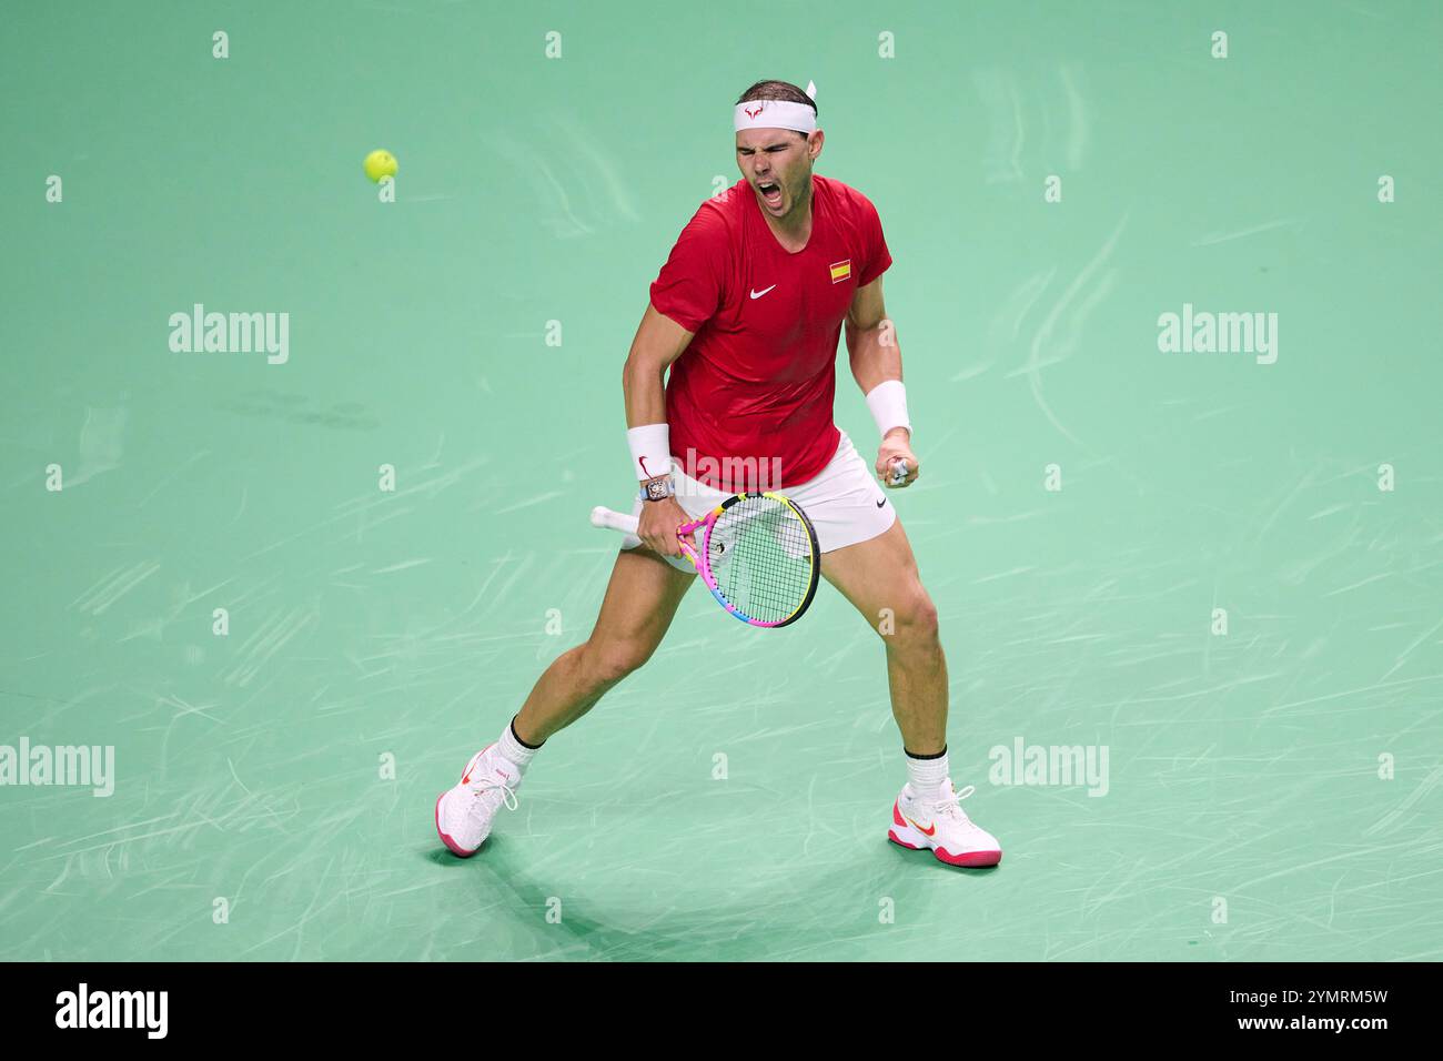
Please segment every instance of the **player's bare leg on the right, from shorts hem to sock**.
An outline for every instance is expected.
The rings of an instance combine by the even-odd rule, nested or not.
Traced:
[[[902,521],[874,538],[824,553],[821,573],[882,634],[892,716],[903,748],[912,755],[941,752],[947,746],[947,657],[937,637],[937,608],[922,588]]]

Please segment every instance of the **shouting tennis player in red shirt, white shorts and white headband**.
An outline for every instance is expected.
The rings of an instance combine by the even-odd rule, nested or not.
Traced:
[[[808,89],[812,89],[808,85]],[[879,482],[921,472],[902,354],[882,305],[882,221],[853,188],[812,172],[824,136],[812,91],[759,81],[733,113],[742,179],[707,199],[651,286],[622,374],[639,482],[596,628],[541,676],[501,736],[436,801],[436,830],[469,856],[554,733],[651,658],[696,580],[677,528],[743,489],[773,489],[811,518],[821,573],[879,631],[908,781],[887,837],[955,866],[993,866],[947,762],[947,657],[912,546]],[[882,437],[869,469],[833,423],[837,339]],[[671,378],[667,380],[667,371]],[[876,475],[873,475],[873,471]],[[778,479],[779,481],[775,481]],[[730,631],[727,631],[730,632]]]

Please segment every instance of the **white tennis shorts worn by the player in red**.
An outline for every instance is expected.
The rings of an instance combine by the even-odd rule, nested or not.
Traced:
[[[675,456],[671,458],[671,476],[677,484],[677,504],[687,515],[698,520],[732,497],[693,479],[681,471],[683,463]],[[896,508],[887,499],[872,466],[861,459],[846,432],[841,432],[837,452],[825,468],[807,482],[784,486],[776,492],[807,512],[823,553],[874,538],[890,530],[898,518]],[[641,515],[645,504],[648,502],[638,499],[632,505],[632,515]],[[639,544],[641,538],[635,534],[622,538],[622,549],[636,549]],[[667,560],[680,570],[696,570],[684,556],[668,556]]]

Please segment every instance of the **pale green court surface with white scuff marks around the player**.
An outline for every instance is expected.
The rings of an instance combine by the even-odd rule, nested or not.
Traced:
[[[0,745],[114,793],[0,787],[0,959],[1443,957],[1439,7],[613,7],[10,14]],[[763,77],[880,211],[1004,859],[886,843],[883,650],[824,585],[784,631],[693,588],[457,860],[433,803],[590,629],[622,361]],[[195,303],[286,361],[173,351]],[[1163,352],[1185,312],[1271,351]],[[999,784],[1019,742],[1105,778]]]

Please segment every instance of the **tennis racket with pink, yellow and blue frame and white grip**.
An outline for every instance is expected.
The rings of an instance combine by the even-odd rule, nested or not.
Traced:
[[[592,524],[636,533],[639,520],[592,510]],[[685,534],[696,534],[693,549]],[[700,520],[677,528],[683,554],[711,596],[749,626],[786,626],[802,618],[817,593],[821,551],[811,520],[781,494],[733,494]]]

